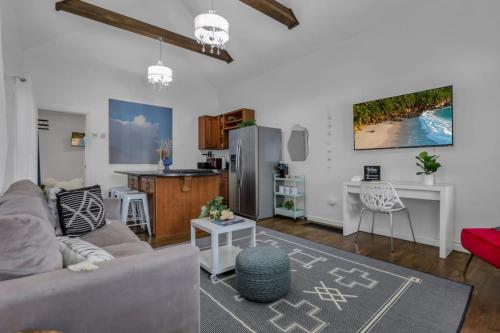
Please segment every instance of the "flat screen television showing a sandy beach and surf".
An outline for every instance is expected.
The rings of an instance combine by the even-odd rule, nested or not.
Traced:
[[[453,87],[354,104],[354,149],[453,145]]]

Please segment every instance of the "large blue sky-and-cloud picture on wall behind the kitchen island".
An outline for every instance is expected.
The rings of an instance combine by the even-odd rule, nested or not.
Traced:
[[[171,161],[171,108],[109,100],[110,164],[157,164],[160,147]]]

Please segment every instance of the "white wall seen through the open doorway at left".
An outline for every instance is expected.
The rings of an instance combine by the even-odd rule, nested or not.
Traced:
[[[42,183],[47,178],[61,181],[85,178],[85,148],[70,145],[71,133],[85,133],[85,116],[39,110],[38,118],[49,123],[48,131],[38,131]]]

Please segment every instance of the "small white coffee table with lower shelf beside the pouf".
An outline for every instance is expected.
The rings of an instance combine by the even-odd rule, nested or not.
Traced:
[[[238,216],[239,217],[239,216]],[[245,219],[245,222],[221,226],[206,219],[191,220],[191,245],[196,246],[196,228],[210,234],[211,248],[200,252],[200,265],[211,273],[210,279],[215,281],[217,274],[234,269],[236,256],[241,251],[233,245],[233,231],[251,229],[251,246],[255,247],[255,221]],[[227,234],[227,244],[219,246],[219,235]]]

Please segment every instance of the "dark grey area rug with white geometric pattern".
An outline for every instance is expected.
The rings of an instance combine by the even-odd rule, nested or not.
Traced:
[[[233,235],[246,248],[250,235]],[[207,238],[197,241],[210,247]],[[201,270],[201,332],[457,332],[472,287],[257,228],[257,246],[288,253],[288,295],[268,304],[241,298],[234,271],[215,283]]]

